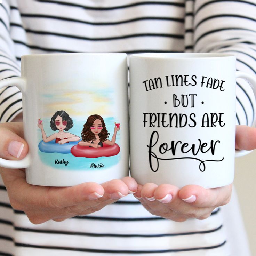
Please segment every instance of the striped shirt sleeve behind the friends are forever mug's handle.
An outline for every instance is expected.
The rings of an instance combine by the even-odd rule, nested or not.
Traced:
[[[188,1],[186,7],[189,5],[193,14],[194,51],[234,54],[237,70],[255,76],[255,0],[194,0]],[[255,99],[243,79],[237,79],[236,107],[237,124],[251,125]]]

